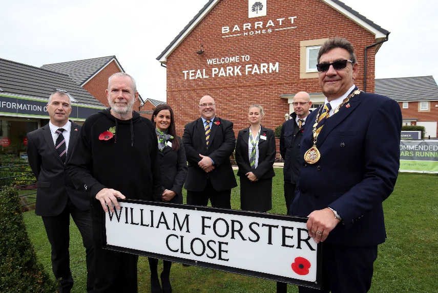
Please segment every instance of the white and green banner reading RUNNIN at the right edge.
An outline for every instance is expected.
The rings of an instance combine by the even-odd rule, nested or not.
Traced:
[[[400,141],[400,171],[438,172],[438,140]]]

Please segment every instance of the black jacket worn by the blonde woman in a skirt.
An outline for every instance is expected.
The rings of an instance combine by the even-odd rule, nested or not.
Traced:
[[[274,130],[261,126],[260,136],[266,140],[259,139],[259,157],[257,168],[251,169],[248,157],[249,128],[239,131],[236,143],[236,163],[239,167],[238,176],[245,176],[248,172],[253,172],[258,179],[272,178],[275,176],[274,161],[276,154]],[[252,147],[252,145],[251,145]]]

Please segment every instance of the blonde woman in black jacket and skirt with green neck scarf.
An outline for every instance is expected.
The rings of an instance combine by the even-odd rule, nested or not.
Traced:
[[[267,212],[272,209],[272,177],[276,154],[274,130],[260,124],[264,116],[260,105],[248,109],[251,126],[239,131],[236,162],[240,178],[240,209]]]

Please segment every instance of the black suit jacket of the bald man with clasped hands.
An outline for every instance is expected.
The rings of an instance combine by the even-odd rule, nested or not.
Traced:
[[[237,186],[230,162],[230,155],[236,146],[233,122],[215,117],[210,139],[208,140],[208,150],[205,142],[204,124],[201,118],[185,125],[182,142],[189,163],[189,172],[184,184],[185,189],[203,191],[209,177],[214,189],[217,191],[232,189]],[[215,162],[213,171],[205,173],[198,166],[199,161],[201,161],[199,154],[209,156]]]

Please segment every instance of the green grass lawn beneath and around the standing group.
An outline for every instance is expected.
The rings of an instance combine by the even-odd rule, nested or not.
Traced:
[[[276,168],[273,182],[273,209],[285,214],[283,169]],[[238,181],[239,182],[239,181]],[[379,245],[374,263],[372,293],[432,293],[438,290],[438,176],[400,173],[392,195],[384,202],[387,240]],[[232,208],[240,208],[239,186],[232,190]],[[33,211],[24,213],[29,236],[39,260],[51,272],[50,244],[41,218]],[[71,269],[75,286],[72,293],[86,291],[85,249],[71,221]],[[159,262],[159,269],[162,262]],[[139,258],[139,292],[150,292],[149,264]],[[252,293],[276,292],[273,281],[174,263],[171,271],[174,292]],[[287,292],[298,292],[288,285]]]

